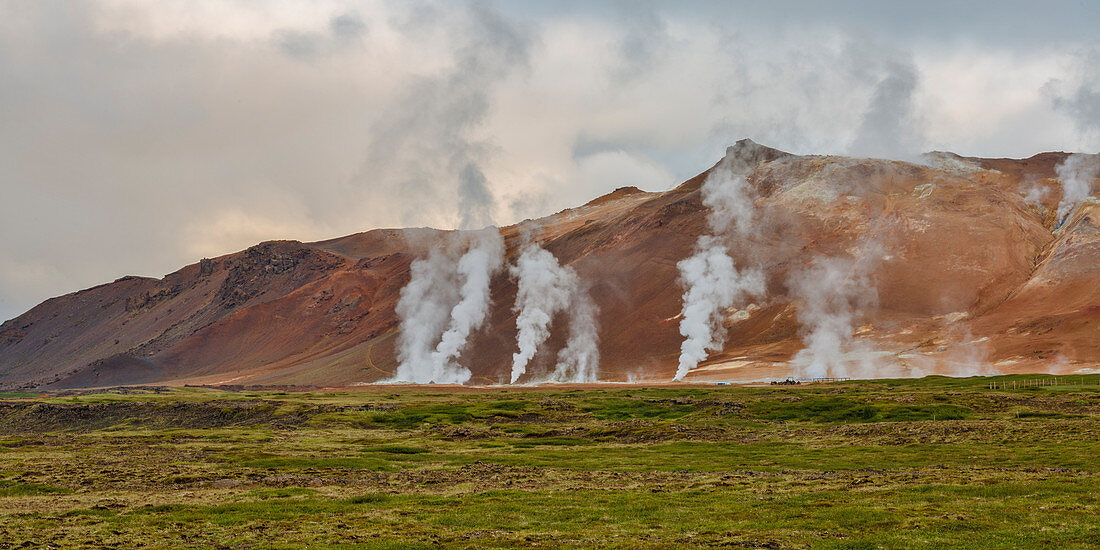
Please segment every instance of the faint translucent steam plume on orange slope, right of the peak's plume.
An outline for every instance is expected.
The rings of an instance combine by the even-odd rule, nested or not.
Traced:
[[[791,364],[804,378],[865,376],[876,354],[854,338],[854,323],[878,300],[871,272],[881,256],[878,246],[859,258],[817,257],[791,274],[788,286],[799,300],[799,322],[805,348]]]

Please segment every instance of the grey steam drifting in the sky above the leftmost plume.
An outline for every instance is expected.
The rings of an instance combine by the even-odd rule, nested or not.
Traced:
[[[373,124],[367,156],[356,179],[370,202],[399,208],[403,226],[447,220],[451,227],[483,228],[496,210],[485,175],[494,147],[477,135],[491,117],[492,90],[528,66],[529,38],[515,22],[483,3],[470,3],[454,18],[452,65],[439,74],[411,79],[400,100],[382,110]],[[405,32],[430,33],[436,18],[413,16]],[[453,26],[453,29],[452,29]],[[387,204],[387,197],[402,197]],[[442,200],[441,200],[442,199]]]

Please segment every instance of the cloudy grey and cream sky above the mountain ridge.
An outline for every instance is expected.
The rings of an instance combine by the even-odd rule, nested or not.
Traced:
[[[741,138],[1096,152],[1098,6],[6,0],[0,320],[264,240],[664,190]]]

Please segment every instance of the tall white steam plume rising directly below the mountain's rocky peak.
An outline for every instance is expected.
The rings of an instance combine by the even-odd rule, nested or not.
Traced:
[[[738,271],[726,245],[733,232],[747,238],[752,231],[754,204],[745,174],[747,163],[727,156],[703,183],[703,205],[710,208],[711,233],[700,235],[691,257],[676,264],[684,287],[680,334],[680,363],[673,380],[683,380],[710,351],[721,351],[726,341],[724,314],[749,296],[765,294],[763,272]]]

